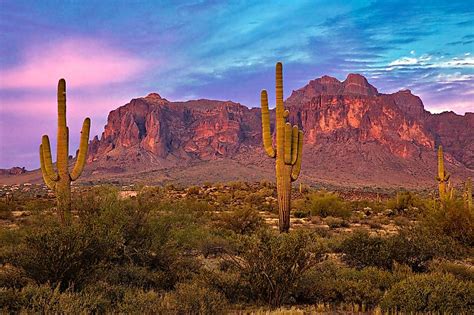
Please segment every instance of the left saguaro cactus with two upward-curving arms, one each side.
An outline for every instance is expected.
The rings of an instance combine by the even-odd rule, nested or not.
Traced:
[[[58,83],[58,139],[56,168],[53,168],[51,146],[47,135],[43,135],[40,145],[40,162],[45,184],[56,193],[58,215],[63,224],[71,211],[71,181],[79,178],[86,163],[91,120],[84,119],[81,142],[77,152],[76,164],[69,172],[69,128],[66,125],[66,81]]]

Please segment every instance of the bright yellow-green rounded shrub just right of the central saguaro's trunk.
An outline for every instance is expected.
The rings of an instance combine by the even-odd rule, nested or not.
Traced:
[[[303,209],[311,211],[312,215],[320,217],[340,217],[349,218],[352,214],[351,210],[344,201],[342,201],[336,193],[331,192],[313,192],[306,197]]]

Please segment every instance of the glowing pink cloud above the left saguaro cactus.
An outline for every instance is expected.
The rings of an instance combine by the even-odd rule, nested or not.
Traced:
[[[96,40],[76,38],[31,46],[19,65],[0,70],[0,88],[51,88],[60,78],[76,87],[130,80],[147,63]]]

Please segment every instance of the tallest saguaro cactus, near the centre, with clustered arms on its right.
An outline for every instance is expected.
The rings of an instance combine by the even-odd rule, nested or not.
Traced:
[[[291,183],[298,179],[301,170],[303,131],[299,130],[298,126],[291,127],[291,124],[286,122],[289,112],[283,106],[282,68],[282,64],[278,62],[276,64],[276,150],[272,144],[266,90],[262,90],[261,93],[262,137],[265,152],[269,157],[276,159],[280,232],[288,232],[290,229]]]

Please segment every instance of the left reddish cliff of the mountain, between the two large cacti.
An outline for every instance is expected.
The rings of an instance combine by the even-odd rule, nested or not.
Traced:
[[[154,93],[110,112],[101,139],[91,142],[89,162],[174,165],[174,161],[213,160],[258,146],[259,136],[258,115],[243,105],[170,102]]]

